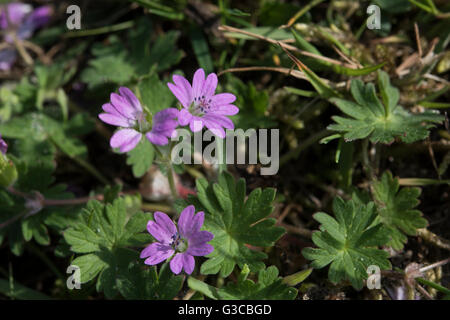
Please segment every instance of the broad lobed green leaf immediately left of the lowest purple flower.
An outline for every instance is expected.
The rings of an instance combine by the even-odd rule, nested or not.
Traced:
[[[118,279],[128,276],[129,264],[138,259],[138,252],[126,248],[149,241],[138,241],[150,215],[138,212],[127,218],[125,200],[118,198],[111,204],[90,201],[82,214],[82,221],[64,232],[70,250],[84,254],[73,260],[80,267],[81,282],[97,278],[97,291],[108,298],[118,293]]]

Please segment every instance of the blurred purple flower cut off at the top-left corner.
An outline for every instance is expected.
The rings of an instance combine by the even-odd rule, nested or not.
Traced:
[[[5,41],[11,44],[14,36],[17,40],[30,38],[34,31],[50,20],[52,9],[41,6],[33,10],[29,4],[13,2],[0,8],[0,29],[5,31]],[[16,61],[17,54],[13,48],[0,50],[0,70],[9,70]]]

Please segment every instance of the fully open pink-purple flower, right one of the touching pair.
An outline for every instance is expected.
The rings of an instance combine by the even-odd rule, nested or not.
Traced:
[[[212,133],[225,138],[226,129],[234,129],[233,122],[227,116],[235,115],[239,109],[232,103],[236,97],[231,93],[215,94],[217,75],[210,73],[205,79],[203,69],[198,69],[192,86],[186,78],[174,75],[174,83],[168,83],[170,91],[180,101],[183,108],[178,115],[181,126],[189,124],[193,132],[206,126]]]

